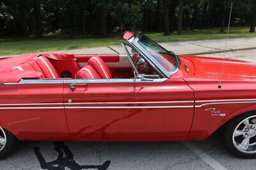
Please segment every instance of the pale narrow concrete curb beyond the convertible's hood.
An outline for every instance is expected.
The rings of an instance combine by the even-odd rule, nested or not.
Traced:
[[[253,49],[256,49],[256,46],[249,46],[249,47],[243,47],[243,48],[228,48],[227,50],[221,49],[221,50],[209,50],[209,51],[203,51],[203,52],[177,53],[177,55],[202,55],[207,53],[236,52],[236,51],[253,50]]]

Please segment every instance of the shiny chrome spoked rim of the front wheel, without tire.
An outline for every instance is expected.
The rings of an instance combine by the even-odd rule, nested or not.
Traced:
[[[243,153],[256,153],[256,115],[240,122],[234,133],[233,143]]]

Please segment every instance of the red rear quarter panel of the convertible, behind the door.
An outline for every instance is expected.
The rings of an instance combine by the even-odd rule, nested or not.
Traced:
[[[66,139],[63,80],[0,83],[0,126],[21,140]]]

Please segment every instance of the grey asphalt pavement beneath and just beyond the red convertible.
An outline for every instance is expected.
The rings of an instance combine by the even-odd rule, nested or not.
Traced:
[[[223,57],[223,53],[204,56]],[[226,57],[256,62],[256,50],[228,52]],[[228,153],[217,134],[205,141],[181,142],[22,141],[12,155],[0,160],[1,169],[58,166],[60,169],[255,169],[256,161]]]

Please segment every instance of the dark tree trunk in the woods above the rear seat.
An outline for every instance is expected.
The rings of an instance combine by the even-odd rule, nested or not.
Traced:
[[[35,24],[37,38],[43,37],[42,32],[42,16],[41,16],[41,0],[35,0]]]

